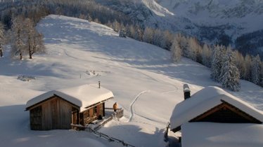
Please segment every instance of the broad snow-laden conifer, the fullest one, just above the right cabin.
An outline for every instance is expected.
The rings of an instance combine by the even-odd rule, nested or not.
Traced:
[[[229,90],[238,91],[240,90],[240,75],[238,68],[236,68],[234,58],[234,52],[228,50],[224,57],[220,82],[223,87],[228,88]]]

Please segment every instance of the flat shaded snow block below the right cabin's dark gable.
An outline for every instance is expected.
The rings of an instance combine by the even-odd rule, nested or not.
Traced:
[[[262,147],[263,125],[184,123],[181,145],[187,147]]]

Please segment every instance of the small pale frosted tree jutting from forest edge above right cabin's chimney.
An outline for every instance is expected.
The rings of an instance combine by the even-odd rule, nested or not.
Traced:
[[[172,61],[179,62],[181,59],[182,51],[176,38],[174,38],[174,41],[172,42],[170,51],[171,51]]]

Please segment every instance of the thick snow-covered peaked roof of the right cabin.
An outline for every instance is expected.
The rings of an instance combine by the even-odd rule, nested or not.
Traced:
[[[170,118],[171,130],[200,116],[206,111],[214,108],[214,106],[222,104],[222,100],[263,122],[262,111],[255,109],[250,106],[250,104],[243,102],[219,87],[210,86],[196,92],[190,99],[186,99],[175,106]]]

